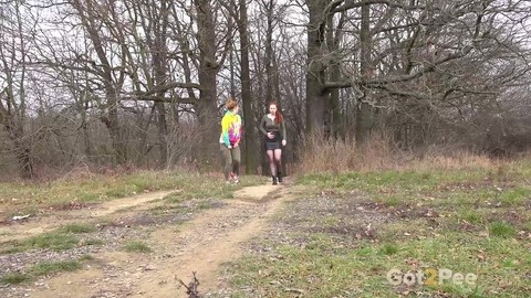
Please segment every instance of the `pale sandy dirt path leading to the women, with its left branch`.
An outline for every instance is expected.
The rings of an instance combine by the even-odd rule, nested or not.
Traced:
[[[91,216],[103,216],[162,199],[168,193],[117,200],[101,205]],[[181,225],[149,231],[150,254],[105,252],[94,255],[82,270],[60,274],[25,289],[25,297],[187,297],[178,281],[197,273],[199,290],[222,289],[217,269],[240,254],[240,244],[258,235],[282,203],[295,196],[288,187],[249,187],[228,204],[197,214]],[[85,214],[86,215],[86,214]],[[79,221],[79,219],[77,219]],[[0,291],[1,292],[1,291]],[[14,297],[14,296],[13,296]]]

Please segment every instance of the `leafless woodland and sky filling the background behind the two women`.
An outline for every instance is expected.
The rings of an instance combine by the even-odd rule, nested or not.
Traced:
[[[228,96],[243,105],[248,172],[271,100],[290,136],[529,146],[528,1],[0,3],[4,172],[215,166]]]

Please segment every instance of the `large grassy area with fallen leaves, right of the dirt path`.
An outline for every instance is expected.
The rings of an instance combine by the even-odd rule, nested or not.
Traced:
[[[227,265],[231,297],[527,297],[530,194],[514,185],[530,174],[524,161],[302,175],[296,183],[313,192],[278,216],[283,233]],[[395,286],[394,268],[478,279]]]

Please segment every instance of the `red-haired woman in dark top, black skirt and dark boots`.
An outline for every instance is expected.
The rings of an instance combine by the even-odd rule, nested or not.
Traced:
[[[285,125],[277,103],[269,105],[269,114],[263,115],[260,131],[266,136],[266,152],[269,158],[269,168],[273,185],[282,183],[282,147],[285,146]]]

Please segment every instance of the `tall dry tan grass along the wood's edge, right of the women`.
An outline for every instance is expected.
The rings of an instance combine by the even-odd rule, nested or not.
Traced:
[[[507,161],[477,155],[462,149],[428,148],[421,155],[395,148],[388,137],[373,136],[365,145],[352,139],[323,140],[321,136],[305,137],[301,146],[299,173],[346,172],[375,170],[494,170]],[[528,153],[529,156],[529,153]]]

